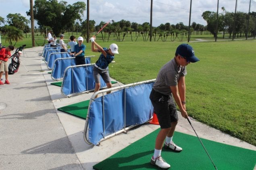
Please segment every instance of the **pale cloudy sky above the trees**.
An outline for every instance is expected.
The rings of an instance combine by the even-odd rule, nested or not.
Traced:
[[[87,0],[65,0],[68,4],[77,1],[87,2]],[[250,0],[237,0],[237,11],[249,11]],[[0,0],[0,16],[6,18],[9,13],[20,13],[27,19],[26,11],[29,10],[29,0]],[[107,22],[112,19],[120,21],[122,19],[130,22],[142,24],[150,22],[150,0],[90,0],[90,20],[95,20],[96,25],[101,21]],[[167,22],[177,24],[183,22],[189,24],[190,0],[153,0],[153,26],[159,26]],[[219,13],[224,6],[229,12],[235,12],[235,0],[219,0]],[[192,0],[191,23],[196,22],[206,25],[202,18],[202,13],[206,10],[217,11],[217,0]],[[251,0],[250,11],[256,12],[256,0]],[[86,19],[86,11],[83,20]],[[35,20],[35,26],[37,26]]]

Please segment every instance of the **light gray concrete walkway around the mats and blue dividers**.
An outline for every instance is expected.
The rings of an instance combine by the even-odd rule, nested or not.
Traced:
[[[42,50],[25,49],[19,71],[9,75],[11,84],[0,86],[0,170],[92,170],[93,165],[159,127],[146,123],[100,146],[86,144],[85,119],[57,108],[88,100],[93,93],[63,97],[60,87],[50,85],[54,81],[38,55]],[[179,117],[177,131],[195,136],[187,120]],[[191,123],[200,138],[256,151],[255,146],[219,130],[194,120]]]

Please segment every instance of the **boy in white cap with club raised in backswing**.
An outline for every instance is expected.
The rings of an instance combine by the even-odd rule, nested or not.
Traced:
[[[96,83],[95,89],[94,89],[94,93],[95,93],[100,89],[100,76],[102,77],[102,79],[104,80],[108,88],[112,87],[111,80],[108,73],[108,64],[113,61],[114,55],[119,53],[118,53],[118,47],[116,44],[111,44],[108,49],[108,48],[102,48],[100,45],[98,45],[97,42],[95,42],[96,40],[95,36],[90,38],[90,40],[92,42],[92,51],[101,53],[100,57],[96,61],[93,68],[94,80]],[[108,93],[110,93],[110,91]],[[95,98],[97,97],[98,95]]]

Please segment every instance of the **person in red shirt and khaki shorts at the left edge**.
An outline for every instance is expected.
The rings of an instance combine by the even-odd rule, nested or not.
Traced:
[[[10,51],[12,51],[14,47],[9,45],[7,48],[3,48],[0,50],[0,85],[10,84],[8,81],[8,65],[7,61],[11,57]],[[5,72],[5,82],[1,81],[2,75]]]

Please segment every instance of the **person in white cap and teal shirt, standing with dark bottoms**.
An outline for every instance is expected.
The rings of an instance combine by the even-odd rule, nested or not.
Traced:
[[[79,36],[77,40],[78,44],[74,47],[75,64],[83,65],[86,64],[84,58],[86,46],[83,44],[83,37]]]

